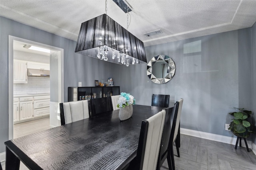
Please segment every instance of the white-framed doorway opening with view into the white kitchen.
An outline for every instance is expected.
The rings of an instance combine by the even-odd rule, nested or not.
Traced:
[[[28,49],[31,46],[49,51]],[[9,35],[9,139],[14,138],[14,124],[29,128],[28,131],[31,126],[27,125],[40,125],[39,119],[48,124],[47,128],[60,125],[58,106],[64,100],[63,52],[58,47]],[[38,130],[35,128],[31,133]]]

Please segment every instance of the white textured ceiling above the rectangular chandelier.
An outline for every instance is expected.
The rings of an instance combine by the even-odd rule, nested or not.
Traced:
[[[251,27],[256,0],[126,0],[132,7],[128,28],[156,45]],[[107,15],[124,28],[125,14],[112,0]],[[105,13],[105,0],[0,0],[0,15],[77,41],[81,23]],[[161,29],[147,37],[144,33]]]

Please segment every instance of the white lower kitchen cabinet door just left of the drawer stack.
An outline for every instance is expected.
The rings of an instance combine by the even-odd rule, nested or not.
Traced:
[[[33,119],[33,117],[34,117],[33,97],[20,98],[20,121],[23,121],[26,119]]]

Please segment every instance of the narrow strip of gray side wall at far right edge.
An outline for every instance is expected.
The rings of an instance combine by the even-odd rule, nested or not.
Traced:
[[[256,125],[256,23],[252,26],[252,113],[253,122]],[[253,135],[252,141],[256,144],[256,134]]]

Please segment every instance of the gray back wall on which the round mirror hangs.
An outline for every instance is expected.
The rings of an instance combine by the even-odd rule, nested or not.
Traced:
[[[184,44],[202,42],[201,52],[184,54]],[[146,76],[146,64],[115,66],[112,77],[121,92],[134,95],[136,104],[151,105],[151,94],[170,94],[171,102],[184,98],[181,127],[233,137],[225,131],[233,107],[251,108],[250,28],[146,47],[147,61],[168,55],[176,73],[166,84]],[[120,70],[122,70],[120,72]]]

